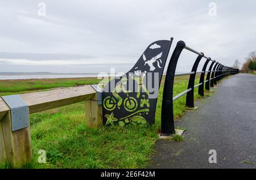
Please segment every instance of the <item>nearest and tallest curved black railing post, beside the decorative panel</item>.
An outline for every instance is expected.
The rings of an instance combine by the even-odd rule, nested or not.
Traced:
[[[177,61],[180,53],[185,48],[185,42],[179,41],[172,53],[170,63],[166,72],[166,80],[164,82],[163,101],[162,101],[162,117],[161,117],[161,135],[169,136],[175,133],[174,127],[174,77]]]

